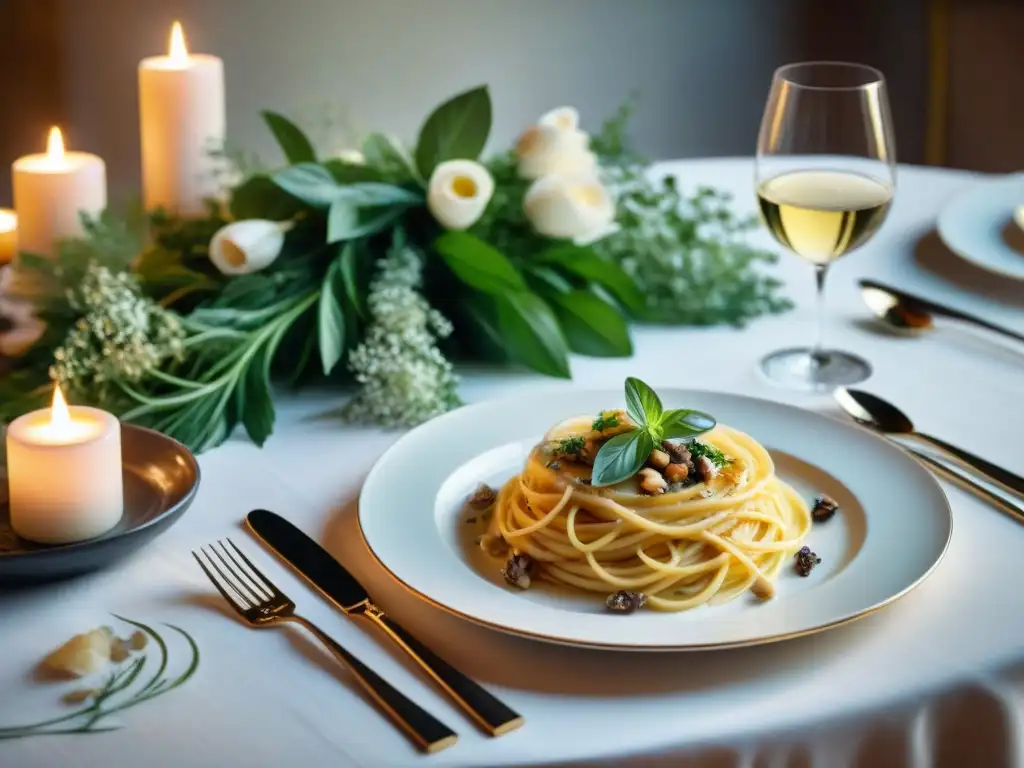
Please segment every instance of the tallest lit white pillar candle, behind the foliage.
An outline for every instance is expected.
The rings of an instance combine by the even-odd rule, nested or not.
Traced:
[[[219,191],[221,164],[212,153],[224,141],[223,61],[188,53],[175,22],[169,55],[138,66],[138,105],[146,210],[202,213]]]

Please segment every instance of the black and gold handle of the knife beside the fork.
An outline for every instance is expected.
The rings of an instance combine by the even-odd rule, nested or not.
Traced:
[[[360,615],[384,630],[492,736],[501,736],[523,724],[521,715],[430,650],[377,606],[370,604]]]

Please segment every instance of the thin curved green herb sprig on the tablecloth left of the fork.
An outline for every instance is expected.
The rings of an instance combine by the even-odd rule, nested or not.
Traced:
[[[188,644],[191,659],[189,660],[184,672],[176,678],[171,679],[165,677],[169,652],[167,642],[163,637],[161,637],[160,633],[141,622],[125,618],[117,613],[115,613],[114,616],[141,630],[153,640],[154,644],[156,644],[159,651],[160,662],[157,666],[156,673],[150,678],[150,680],[142,685],[142,687],[131,693],[127,698],[124,698],[117,703],[109,703],[117,694],[129,691],[135,681],[138,680],[139,676],[142,674],[142,670],[150,656],[148,654],[137,655],[127,665],[124,665],[110,674],[103,686],[93,692],[91,696],[91,703],[82,707],[75,712],[61,715],[60,717],[52,718],[50,720],[44,720],[40,723],[12,727],[0,727],[0,740],[26,738],[28,736],[48,736],[58,733],[98,733],[101,731],[118,730],[122,726],[102,724],[101,721],[117,712],[123,712],[124,710],[140,705],[143,701],[148,701],[151,698],[156,698],[157,696],[161,696],[164,693],[172,691],[175,688],[184,685],[184,683],[191,679],[193,675],[196,674],[196,671],[199,669],[199,646],[196,644],[191,635],[182,630],[180,627],[175,627],[170,624],[165,625],[184,638],[185,642]],[[54,725],[61,725],[65,723],[68,723],[69,725],[62,728],[52,727]]]

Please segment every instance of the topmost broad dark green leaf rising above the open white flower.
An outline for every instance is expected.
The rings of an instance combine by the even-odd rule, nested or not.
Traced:
[[[445,160],[476,160],[490,133],[490,93],[479,86],[434,110],[416,141],[416,168],[429,179]]]

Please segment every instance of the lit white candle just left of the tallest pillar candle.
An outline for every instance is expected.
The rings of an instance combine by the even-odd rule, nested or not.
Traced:
[[[95,155],[65,152],[60,129],[50,129],[46,154],[27,155],[11,166],[17,249],[52,256],[62,238],[83,233],[81,213],[106,208],[106,166]]]

